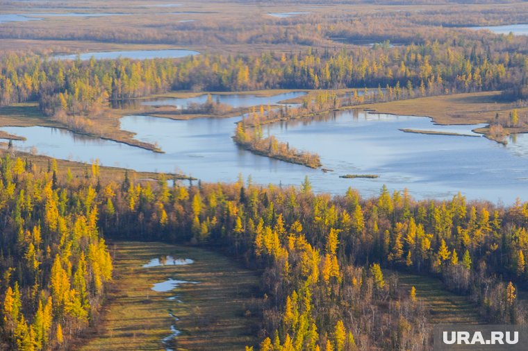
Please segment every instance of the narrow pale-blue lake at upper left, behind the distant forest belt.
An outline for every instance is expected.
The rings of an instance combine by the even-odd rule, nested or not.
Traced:
[[[167,50],[132,50],[132,51],[99,51],[89,53],[72,53],[68,55],[54,55],[55,60],[76,60],[77,56],[81,60],[90,60],[92,56],[96,60],[115,60],[116,58],[131,58],[133,60],[147,60],[151,58],[184,58],[190,55],[198,55],[199,52],[185,49]]]

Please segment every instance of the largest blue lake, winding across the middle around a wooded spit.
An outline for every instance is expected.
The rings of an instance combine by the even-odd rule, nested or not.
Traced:
[[[290,94],[290,93],[289,93]],[[220,95],[239,106],[242,95]],[[280,101],[283,95],[276,96]],[[237,101],[238,99],[238,101]],[[251,99],[261,99],[256,96]],[[186,103],[179,101],[180,104]],[[188,103],[188,101],[187,101]],[[254,103],[254,102],[252,102]],[[320,154],[323,167],[308,169],[242,150],[231,140],[240,117],[174,121],[149,116],[127,116],[122,129],[137,133],[145,142],[158,142],[165,153],[152,153],[126,144],[75,135],[45,127],[6,127],[27,138],[17,148],[65,160],[93,161],[138,171],[179,171],[206,182],[233,182],[238,174],[254,183],[300,185],[305,176],[314,191],[344,194],[348,187],[363,196],[389,189],[408,188],[415,198],[450,198],[461,191],[470,199],[484,198],[509,204],[517,196],[528,200],[528,135],[510,137],[503,146],[475,137],[474,126],[437,126],[426,117],[370,114],[351,110],[327,116],[267,125],[264,135],[275,135],[290,146]],[[456,132],[469,136],[425,135],[400,129]],[[339,178],[345,174],[377,174],[379,178]]]

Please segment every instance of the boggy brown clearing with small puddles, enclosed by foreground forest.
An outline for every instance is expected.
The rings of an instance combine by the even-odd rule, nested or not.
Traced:
[[[258,277],[223,255],[164,243],[110,243],[115,282],[101,323],[81,350],[160,350],[178,317],[176,350],[242,350],[257,342],[260,300]],[[142,268],[151,259],[172,255],[193,264]],[[169,278],[199,282],[176,291],[152,291]],[[167,300],[171,296],[176,300]],[[178,302],[181,300],[182,302]],[[97,333],[97,334],[96,334]]]

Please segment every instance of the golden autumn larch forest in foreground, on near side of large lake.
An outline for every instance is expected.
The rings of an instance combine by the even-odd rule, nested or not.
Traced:
[[[388,270],[441,277],[488,323],[525,323],[528,203],[413,200],[408,191],[331,197],[301,187],[101,180],[1,159],[3,343],[67,348],[112,278],[103,239],[224,248],[262,273],[260,350],[427,350],[420,291]],[[396,332],[397,331],[397,332]],[[249,347],[253,345],[248,345]]]

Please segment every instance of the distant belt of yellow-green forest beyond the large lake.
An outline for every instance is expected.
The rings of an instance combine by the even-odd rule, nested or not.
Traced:
[[[11,53],[0,59],[0,105],[36,100],[44,114],[65,128],[100,135],[100,126],[94,119],[110,113],[108,101],[173,89],[370,87],[377,89],[371,101],[500,89],[504,99],[525,99],[528,58],[520,52],[511,53],[511,45],[518,44],[509,44],[504,38],[493,48],[477,41],[469,43],[453,46],[435,41],[333,52],[308,49],[306,53],[288,55],[272,52],[257,56],[199,55],[176,61],[92,58],[63,62]],[[367,97],[356,95],[343,102],[333,101],[333,105],[355,105]],[[317,105],[319,111],[325,110],[321,103]],[[518,105],[524,107],[522,103]],[[502,127],[508,126],[513,127],[502,123]],[[491,134],[502,135],[504,131],[495,128]]]

